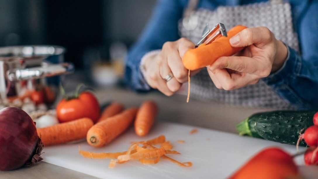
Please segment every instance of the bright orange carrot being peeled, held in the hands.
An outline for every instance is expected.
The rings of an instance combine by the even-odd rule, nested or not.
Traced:
[[[184,67],[189,70],[197,70],[211,65],[219,57],[232,56],[238,53],[244,47],[232,47],[229,40],[246,28],[237,25],[227,32],[227,37],[222,36],[208,45],[201,44],[195,49],[188,50],[182,58]]]

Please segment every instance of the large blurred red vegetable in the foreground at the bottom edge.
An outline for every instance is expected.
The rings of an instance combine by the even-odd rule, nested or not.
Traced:
[[[230,179],[281,179],[299,177],[298,169],[293,157],[272,147],[262,150],[241,167]]]

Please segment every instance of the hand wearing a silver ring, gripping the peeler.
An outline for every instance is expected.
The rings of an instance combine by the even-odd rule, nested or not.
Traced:
[[[188,49],[195,48],[194,43],[186,38],[163,44],[161,52],[145,59],[144,77],[151,88],[158,89],[167,96],[180,89],[182,83],[188,81],[188,70],[184,68],[182,57]],[[164,78],[173,74],[168,82]],[[195,72],[191,72],[193,75]]]

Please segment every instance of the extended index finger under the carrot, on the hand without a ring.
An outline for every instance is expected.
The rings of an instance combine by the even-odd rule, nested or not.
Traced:
[[[266,77],[271,72],[271,64],[269,61],[262,60],[263,57],[245,57],[245,56],[230,56],[220,57],[209,69],[214,71],[216,69],[229,68],[235,71],[250,73]]]

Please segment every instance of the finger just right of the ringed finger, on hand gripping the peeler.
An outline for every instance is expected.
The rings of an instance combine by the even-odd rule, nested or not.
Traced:
[[[180,54],[177,51],[168,54],[167,63],[178,82],[184,83],[188,80],[188,70],[184,68]]]

